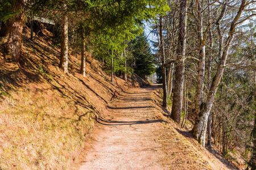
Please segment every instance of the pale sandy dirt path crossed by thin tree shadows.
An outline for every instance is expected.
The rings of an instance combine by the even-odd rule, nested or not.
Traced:
[[[109,105],[80,169],[167,169],[160,164],[165,154],[156,142],[165,122],[156,120],[150,99],[156,88],[133,89]]]

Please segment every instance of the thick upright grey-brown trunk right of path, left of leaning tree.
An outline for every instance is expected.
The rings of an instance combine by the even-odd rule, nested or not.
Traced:
[[[184,59],[186,46],[187,29],[187,0],[181,0],[179,22],[179,44],[177,46],[177,63],[174,83],[174,100],[172,101],[171,117],[180,124],[182,101],[183,101],[183,82],[184,82]]]

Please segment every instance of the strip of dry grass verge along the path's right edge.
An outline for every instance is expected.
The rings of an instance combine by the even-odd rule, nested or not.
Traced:
[[[192,120],[188,120],[184,128],[180,128],[171,118],[170,112],[162,108],[162,90],[158,90],[151,95],[154,107],[161,111],[162,120],[168,122],[163,125],[164,130],[159,132],[159,140],[166,158],[162,164],[169,169],[238,169],[228,162],[217,150],[207,150],[201,147],[192,138]],[[169,109],[171,111],[171,109]],[[192,109],[189,109],[192,111]],[[192,114],[189,112],[189,114]],[[192,117],[192,116],[191,116]]]

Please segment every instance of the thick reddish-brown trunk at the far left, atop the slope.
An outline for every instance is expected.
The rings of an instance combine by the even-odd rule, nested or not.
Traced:
[[[13,61],[18,62],[20,50],[22,48],[22,30],[24,26],[24,1],[15,1],[13,11],[21,10],[18,14],[8,19],[6,23],[2,22],[0,37],[3,37],[1,50],[3,54],[9,56]]]

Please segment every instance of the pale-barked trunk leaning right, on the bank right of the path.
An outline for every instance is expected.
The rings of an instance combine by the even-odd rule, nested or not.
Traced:
[[[230,26],[229,30],[229,36],[226,40],[225,48],[222,53],[222,57],[220,59],[220,62],[217,66],[216,75],[213,78],[212,84],[210,86],[210,90],[207,95],[207,100],[205,104],[202,106],[201,111],[199,112],[199,119],[196,120],[195,125],[192,129],[193,137],[202,145],[205,146],[205,133],[207,129],[207,120],[210,113],[210,109],[212,109],[214,97],[217,92],[218,84],[220,84],[220,80],[222,78],[223,71],[225,69],[225,63],[226,59],[228,57],[229,48],[231,46],[231,43],[234,39],[234,30],[236,29],[236,23],[238,19],[240,18],[245,6],[246,6],[246,0],[242,0],[240,9],[237,12],[237,15],[232,21],[232,24]]]

